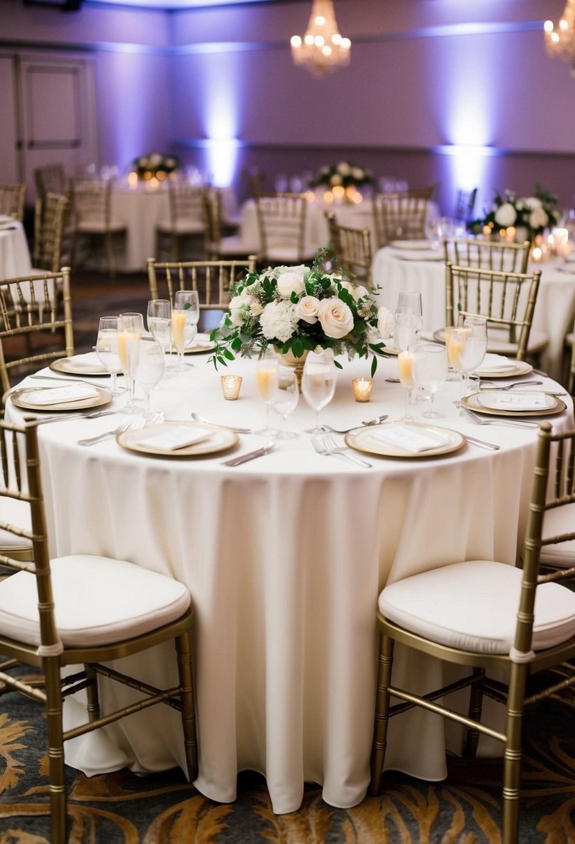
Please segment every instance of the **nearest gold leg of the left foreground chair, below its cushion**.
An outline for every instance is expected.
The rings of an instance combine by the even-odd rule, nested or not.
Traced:
[[[46,675],[51,844],[66,844],[66,778],[62,740],[62,692],[60,663],[57,657],[46,659],[44,672]]]

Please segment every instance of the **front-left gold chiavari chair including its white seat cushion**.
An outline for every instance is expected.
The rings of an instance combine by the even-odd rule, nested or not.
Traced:
[[[69,840],[64,767],[64,744],[68,740],[164,703],[180,712],[185,772],[190,780],[196,777],[191,596],[172,577],[149,571],[132,560],[85,554],[51,560],[37,426],[3,422],[0,436],[3,454],[13,455],[9,471],[3,473],[0,510],[4,514],[6,500],[26,502],[31,529],[4,521],[0,527],[16,538],[25,538],[34,549],[32,563],[8,554],[0,556],[0,564],[14,571],[0,582],[0,693],[18,691],[46,707],[51,842],[65,844]],[[21,456],[22,444],[25,452]],[[21,464],[24,470],[20,480],[16,469]],[[154,688],[110,666],[113,660],[169,641],[174,642],[175,658],[169,669],[172,676],[168,688]],[[13,674],[12,669],[20,665],[38,669],[40,679],[30,682]],[[61,678],[62,668],[67,666],[79,670]],[[28,671],[30,674],[30,668]],[[100,676],[137,690],[140,699],[118,706],[116,711],[100,711]],[[86,721],[65,730],[63,701],[80,690],[87,697]]]

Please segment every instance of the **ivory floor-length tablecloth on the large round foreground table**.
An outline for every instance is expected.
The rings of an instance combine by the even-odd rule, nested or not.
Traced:
[[[220,372],[207,356],[190,355],[193,368],[165,379],[153,392],[153,409],[166,419],[189,420],[196,411],[214,423],[260,428],[266,414],[255,362],[228,366],[243,376],[232,403],[223,400]],[[404,388],[385,380],[397,376],[395,358],[379,361],[370,403],[355,403],[351,389],[352,376],[368,375],[368,362],[343,365],[321,421],[343,428],[379,414],[403,415]],[[314,452],[304,433],[314,413],[303,398],[287,419],[298,438],[278,441],[266,457],[235,468],[223,461],[266,441],[242,434],[228,452],[154,457],[114,439],[77,444],[110,430],[116,416],[39,426],[51,555],[132,560],[190,588],[200,766],[195,785],[207,797],[233,801],[238,772],[250,769],[266,776],[278,814],[298,809],[304,782],[320,783],[330,805],[361,802],[369,779],[379,591],[386,582],[454,560],[515,564],[536,430],[474,425],[457,415],[458,395],[458,383],[442,387],[436,402],[446,416],[436,424],[496,443],[499,451],[465,443],[438,457],[363,454],[373,466],[361,468]],[[561,414],[545,417],[556,430],[573,421],[571,399],[563,400]],[[124,399],[114,402],[121,408]],[[8,400],[7,418],[21,413]],[[131,657],[131,663],[151,684],[175,679],[169,647]],[[395,666],[418,678],[419,691],[440,682],[446,670],[431,657],[408,658],[400,648]],[[135,693],[121,688],[114,694],[110,699],[103,682],[103,711]],[[77,701],[66,702],[66,728],[77,721],[77,707]],[[392,731],[387,766],[442,779],[446,743],[460,749],[459,735],[444,733],[441,720],[423,711],[400,717],[404,723]],[[158,771],[185,766],[182,744],[177,713],[153,707],[73,739],[66,760],[88,775],[123,766]]]

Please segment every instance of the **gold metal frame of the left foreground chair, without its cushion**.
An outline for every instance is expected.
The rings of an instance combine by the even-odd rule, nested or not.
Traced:
[[[19,438],[25,443],[25,479],[18,471],[20,458]],[[97,647],[62,646],[54,615],[54,598],[51,587],[51,565],[48,556],[46,535],[46,515],[40,482],[40,456],[38,450],[36,425],[8,425],[0,422],[0,450],[2,453],[3,497],[18,498],[30,504],[32,530],[19,529],[0,522],[0,527],[21,535],[33,544],[34,562],[20,562],[7,555],[0,555],[0,564],[13,571],[29,571],[35,575],[38,590],[38,612],[40,617],[40,647],[24,641],[16,641],[0,634],[0,681],[3,688],[0,695],[10,691],[38,701],[46,706],[48,728],[48,765],[51,801],[51,842],[65,844],[67,841],[67,798],[64,770],[64,742],[85,733],[119,721],[137,711],[164,703],[180,711],[184,731],[185,759],[188,776],[193,780],[197,776],[196,750],[196,715],[193,698],[191,674],[190,631],[193,625],[193,611],[187,609],[179,619],[150,630],[140,636],[124,641],[115,641],[110,645]],[[13,461],[8,460],[13,455]],[[13,471],[8,472],[8,464]],[[13,477],[15,476],[15,478]],[[128,657],[165,641],[175,641],[178,662],[179,684],[170,689],[156,689],[126,674],[105,666],[114,659]],[[10,670],[20,664],[34,666],[42,670],[44,681],[26,682]],[[68,665],[81,665],[82,670],[61,679],[61,669]],[[114,712],[101,715],[99,711],[98,677],[107,677],[132,689],[142,692],[144,697],[136,703],[123,706]],[[86,690],[88,698],[88,721],[76,728],[64,731],[62,726],[62,701],[79,690]]]

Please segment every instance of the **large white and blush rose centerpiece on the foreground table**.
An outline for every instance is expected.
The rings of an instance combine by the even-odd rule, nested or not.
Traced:
[[[249,273],[232,285],[229,310],[211,334],[216,349],[209,360],[218,367],[235,354],[250,357],[256,350],[276,346],[283,354],[384,355],[389,337],[389,314],[373,302],[368,289],[321,268],[328,249],[320,250],[312,268],[268,267]],[[341,369],[339,361],[335,365]]]

